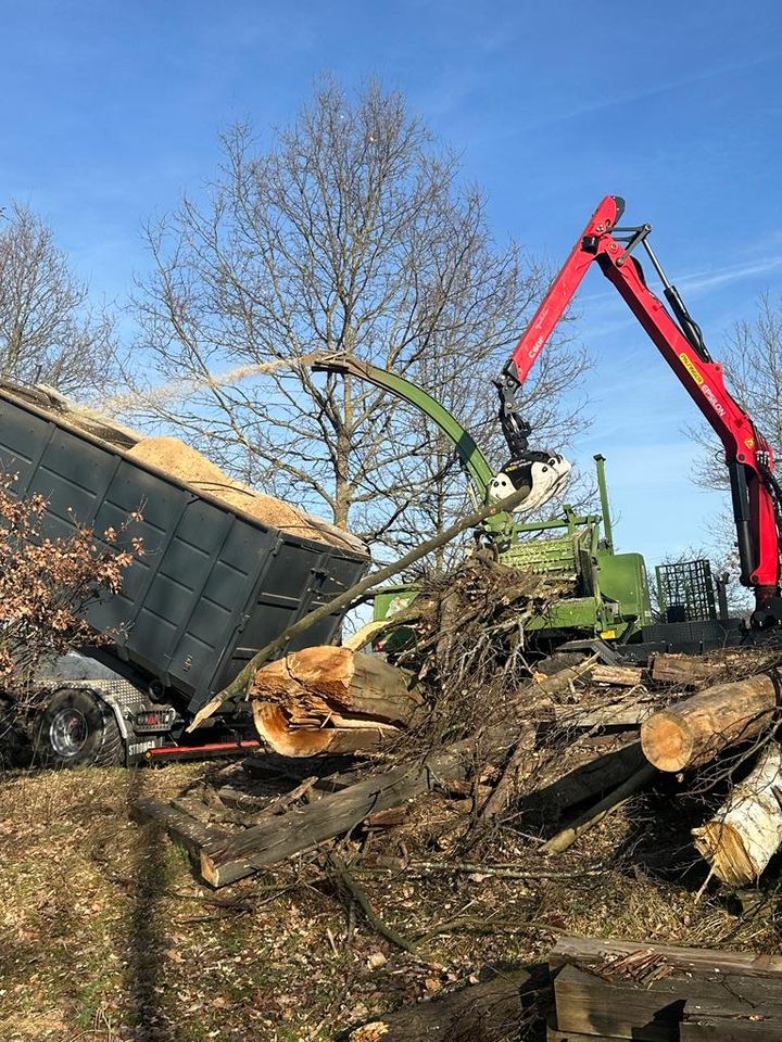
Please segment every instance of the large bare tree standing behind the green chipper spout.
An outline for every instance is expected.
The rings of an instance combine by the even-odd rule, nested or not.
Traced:
[[[190,394],[147,395],[148,416],[367,539],[422,537],[454,509],[451,447],[383,393],[308,361],[338,352],[394,369],[484,430],[496,408],[488,376],[541,271],[493,242],[455,157],[377,84],[351,100],[328,79],[265,151],[247,126],[223,149],[205,198],[149,229],[141,346],[159,379]],[[547,359],[530,408],[562,447],[581,422],[564,398],[585,357],[560,341]],[[211,376],[237,365],[241,381]]]

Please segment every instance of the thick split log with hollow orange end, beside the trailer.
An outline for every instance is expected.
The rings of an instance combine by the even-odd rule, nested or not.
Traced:
[[[409,673],[346,647],[304,648],[272,662],[249,694],[258,734],[286,757],[376,749],[422,703]]]

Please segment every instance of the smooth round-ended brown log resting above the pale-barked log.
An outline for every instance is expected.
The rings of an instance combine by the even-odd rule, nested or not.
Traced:
[[[709,687],[642,724],[644,755],[658,771],[701,766],[728,746],[759,735],[775,708],[777,686],[765,673]]]

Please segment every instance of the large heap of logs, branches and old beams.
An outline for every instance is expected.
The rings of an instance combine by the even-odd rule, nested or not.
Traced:
[[[211,887],[262,873],[260,888],[275,877],[286,890],[303,880],[320,899],[336,898],[348,935],[357,920],[357,932],[383,948],[373,954],[390,960],[393,952],[407,969],[436,966],[456,949],[451,938],[461,930],[502,931],[514,902],[516,918],[504,926],[528,933],[535,956],[553,932],[581,929],[572,915],[593,907],[595,916],[608,913],[611,931],[621,930],[614,916],[623,914],[625,899],[630,906],[639,892],[657,900],[658,881],[648,881],[655,866],[677,886],[689,873],[696,904],[708,886],[709,906],[726,887],[770,880],[782,842],[777,653],[602,662],[559,652],[541,661],[527,627],[567,590],[566,581],[510,573],[478,556],[455,585],[432,586],[405,609],[404,624],[417,636],[390,661],[366,648],[380,633],[375,625],[343,647],[272,662],[266,652],[285,650],[278,640],[229,692],[250,698],[264,751],[171,803],[137,800],[136,815],[182,844]],[[582,894],[590,879],[594,889]],[[420,905],[408,905],[414,880],[432,890],[424,922]],[[459,889],[452,908],[451,892]],[[567,922],[560,910],[570,891]],[[754,892],[728,897],[736,904]],[[679,931],[679,911],[671,902],[681,939],[688,933]],[[639,902],[639,936],[670,936],[645,913]],[[329,943],[336,956],[339,938],[335,945],[329,935]],[[770,995],[752,983],[782,967],[721,953],[720,973],[733,987],[722,1002],[711,987],[722,978],[708,979],[714,953],[698,962],[683,949],[567,944],[552,957],[551,986],[541,989],[528,968],[512,970],[356,1022],[341,1038],[499,1042],[521,1038],[519,1019],[534,1016],[542,1039],[550,1000],[550,1042],[782,1038],[773,1034]],[[404,979],[399,966],[394,974]],[[398,993],[388,1005],[399,1001]],[[748,1019],[752,1004],[764,1021]],[[343,1011],[341,1019],[361,1015]]]

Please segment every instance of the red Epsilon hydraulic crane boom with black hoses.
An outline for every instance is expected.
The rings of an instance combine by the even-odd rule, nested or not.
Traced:
[[[535,455],[529,449],[530,427],[519,416],[516,392],[581,279],[596,262],[719,435],[730,475],[741,582],[755,590],[755,623],[779,621],[782,495],[773,474],[773,450],[727,390],[722,366],[711,359],[701,329],[649,245],[652,226],[618,227],[623,211],[625,201],[617,195],[606,195],[601,202],[496,382],[502,403],[500,419],[512,455],[505,469],[524,466]],[[670,312],[646,285],[643,269],[633,256],[639,246],[645,249],[663,280]]]

